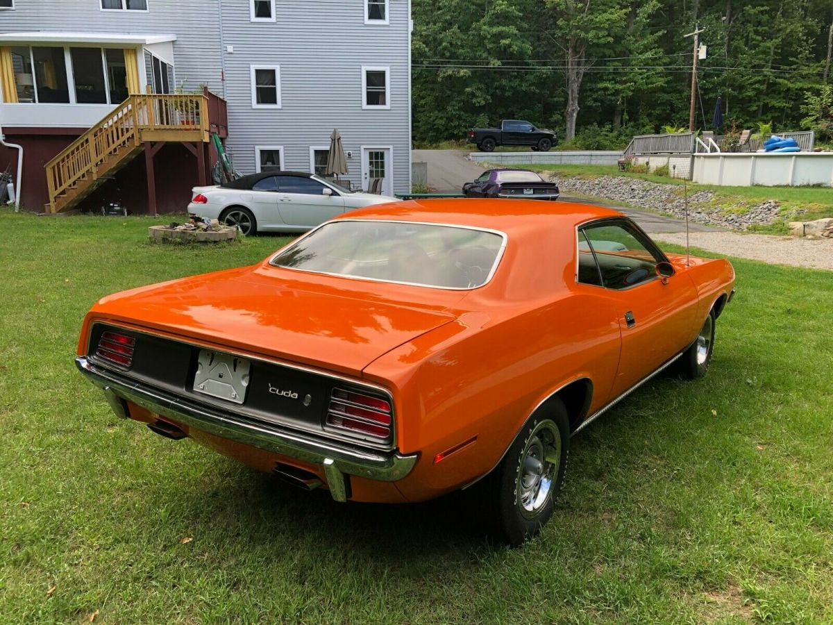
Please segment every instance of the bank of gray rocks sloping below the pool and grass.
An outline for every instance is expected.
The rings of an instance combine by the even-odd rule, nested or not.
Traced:
[[[686,214],[686,200],[679,184],[651,183],[641,178],[619,176],[567,178],[551,174],[549,179],[558,183],[562,195],[580,193],[594,198],[627,203],[636,208],[644,207],[671,213],[676,217],[685,217]],[[725,228],[746,230],[752,224],[772,223],[779,214],[780,205],[775,200],[767,200],[754,206],[739,203],[737,212],[728,212],[712,207],[711,202],[714,198],[713,191],[690,193],[688,197],[689,219],[696,223],[711,223]]]

